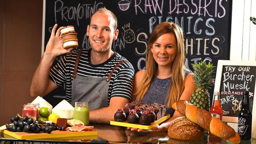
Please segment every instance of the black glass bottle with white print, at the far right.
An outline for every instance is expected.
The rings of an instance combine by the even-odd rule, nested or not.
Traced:
[[[241,140],[250,140],[252,136],[252,112],[249,104],[249,90],[243,92],[242,109],[238,116],[237,133]]]

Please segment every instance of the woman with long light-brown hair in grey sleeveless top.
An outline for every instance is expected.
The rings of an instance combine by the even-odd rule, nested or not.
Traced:
[[[146,54],[146,70],[134,76],[132,100],[167,105],[171,118],[150,131],[167,131],[171,122],[182,115],[171,109],[177,100],[189,101],[195,90],[193,74],[185,66],[182,29],[173,22],[162,22],[150,36]],[[128,128],[130,129],[130,128]],[[131,128],[131,130],[145,131]]]

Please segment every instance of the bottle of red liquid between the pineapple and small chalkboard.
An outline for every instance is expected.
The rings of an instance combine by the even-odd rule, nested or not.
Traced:
[[[223,110],[221,107],[220,92],[214,92],[210,114],[211,116],[216,117],[219,120],[222,120]]]

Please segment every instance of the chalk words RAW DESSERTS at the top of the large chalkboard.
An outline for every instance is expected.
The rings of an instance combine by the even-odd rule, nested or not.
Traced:
[[[164,0],[134,0],[135,14],[154,14],[157,15],[160,13],[163,15],[163,11],[167,10],[169,15],[197,15],[199,17],[217,17],[223,18],[226,15],[226,9],[223,6],[224,3],[227,3],[227,0],[215,0],[206,1],[206,0],[165,0],[167,4],[163,7]],[[214,9],[212,9],[214,7]],[[165,8],[165,9],[163,9]]]

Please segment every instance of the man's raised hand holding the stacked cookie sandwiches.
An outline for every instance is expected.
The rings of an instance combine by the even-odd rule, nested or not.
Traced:
[[[51,37],[45,49],[45,55],[49,55],[52,58],[55,58],[58,55],[69,53],[73,49],[73,48],[69,48],[69,49],[63,48],[63,40],[61,38],[60,30],[63,29],[64,27],[60,27],[56,31],[57,26],[58,24],[55,24],[54,27],[52,28]],[[56,34],[55,34],[55,31],[56,31]]]

